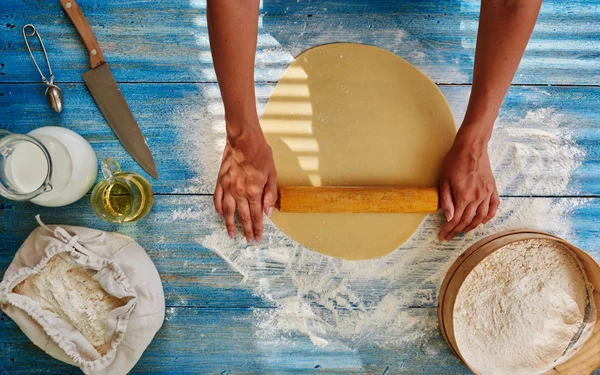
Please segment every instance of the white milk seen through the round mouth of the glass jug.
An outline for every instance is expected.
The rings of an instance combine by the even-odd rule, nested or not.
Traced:
[[[10,176],[14,187],[28,194],[42,186],[48,174],[48,161],[44,152],[31,142],[15,146],[10,157]]]

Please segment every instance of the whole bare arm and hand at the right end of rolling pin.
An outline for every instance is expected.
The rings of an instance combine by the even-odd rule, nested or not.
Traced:
[[[440,204],[448,222],[440,239],[468,232],[496,214],[500,199],[487,143],[541,5],[542,0],[481,2],[471,97],[444,160]]]

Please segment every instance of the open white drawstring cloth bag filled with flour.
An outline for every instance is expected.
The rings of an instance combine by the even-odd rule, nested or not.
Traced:
[[[156,267],[131,238],[40,227],[0,283],[0,306],[46,353],[86,374],[126,374],[162,326]]]

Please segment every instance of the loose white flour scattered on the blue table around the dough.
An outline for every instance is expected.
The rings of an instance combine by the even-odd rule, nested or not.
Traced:
[[[205,27],[203,17],[199,17],[198,22]],[[289,40],[280,38],[278,30],[270,28],[268,22],[266,26],[261,22],[257,80],[279,77],[293,55],[307,46],[338,40],[342,33],[344,41],[384,43],[382,47],[407,56],[409,61],[419,62],[424,73],[433,75],[436,80],[464,82],[468,78],[460,70],[458,58],[447,64],[456,67],[456,71],[444,72],[444,77],[428,71],[424,62],[431,57],[425,54],[420,41],[403,30],[390,32],[373,27],[369,33],[363,30],[353,34],[353,28],[346,28],[344,24],[339,24],[337,29],[335,25],[323,30],[315,27],[319,24],[307,21],[300,30],[306,35]],[[281,46],[278,39],[287,44]],[[198,35],[198,46],[206,50],[204,29]],[[208,53],[201,57],[207,62],[210,60]],[[214,72],[206,72],[206,76],[212,80]],[[273,86],[257,85],[260,112]],[[199,85],[197,97],[188,96],[174,110],[172,118],[181,128],[196,132],[182,137],[179,147],[197,151],[190,153],[194,157],[187,160],[188,170],[193,173],[188,176],[190,183],[176,193],[212,193],[212,189],[205,190],[205,187],[214,184],[225,145],[220,93],[216,84]],[[464,108],[453,108],[455,113],[461,110]],[[567,192],[569,178],[583,159],[583,152],[571,140],[568,125],[566,119],[551,108],[532,111],[516,120],[499,121],[490,145],[499,191],[518,195]],[[527,227],[569,236],[568,214],[582,201],[504,199],[491,223],[449,243],[437,239],[442,216],[430,215],[401,248],[368,261],[345,261],[314,253],[288,239],[271,223],[265,224],[266,232],[260,245],[248,246],[242,240],[231,240],[224,228],[200,236],[197,241],[239,272],[256,295],[272,302],[275,308],[255,311],[258,335],[265,342],[303,335],[318,346],[356,347],[367,343],[398,347],[409,343],[435,354],[438,349],[428,346],[428,342],[438,334],[437,292],[454,259],[477,239],[501,230]],[[218,220],[208,207],[175,211],[172,220],[190,219],[194,215],[215,215],[215,221]]]

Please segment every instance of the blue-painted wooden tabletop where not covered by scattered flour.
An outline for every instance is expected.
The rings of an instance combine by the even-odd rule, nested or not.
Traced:
[[[239,274],[197,240],[224,230],[212,209],[212,198],[194,195],[212,193],[223,139],[205,1],[79,3],[155,153],[160,180],[153,184],[159,195],[147,218],[119,227],[95,218],[89,197],[62,209],[0,199],[0,275],[36,226],[33,216],[41,213],[47,223],[116,230],[132,236],[156,263],[169,306],[167,320],[134,372],[468,373],[439,335],[394,349],[351,342],[319,348],[295,334],[287,341],[257,335],[253,309],[273,306],[255,296],[251,286],[241,283]],[[468,84],[478,8],[479,2],[474,0],[263,0],[256,69],[259,105],[264,105],[273,82],[293,56],[334,41],[378,45],[412,62],[438,83]],[[600,195],[600,88],[546,87],[600,85],[599,15],[600,5],[592,0],[544,2],[515,77],[517,84],[539,86],[513,87],[502,110],[505,119],[519,119],[537,108],[555,108],[567,119],[565,130],[571,130],[586,156],[572,177],[569,191],[559,195]],[[65,93],[66,107],[60,115],[48,108],[43,98],[45,88],[38,83],[37,71],[25,50],[21,27],[26,23],[35,24],[42,33]],[[81,73],[87,69],[83,44],[58,1],[2,2],[0,127],[25,133],[40,126],[62,125],[86,137],[100,159],[116,157],[124,169],[139,172],[81,83]],[[469,87],[441,89],[460,122]],[[513,193],[510,188],[502,192]],[[567,239],[596,259],[600,259],[598,212],[599,199],[577,207],[571,218],[573,236]],[[265,235],[275,236],[273,231]],[[421,274],[431,267],[439,268],[439,261],[411,275],[423,277]],[[411,311],[434,320],[436,288],[425,283]],[[0,314],[0,373],[78,372],[35,348],[8,317]]]

